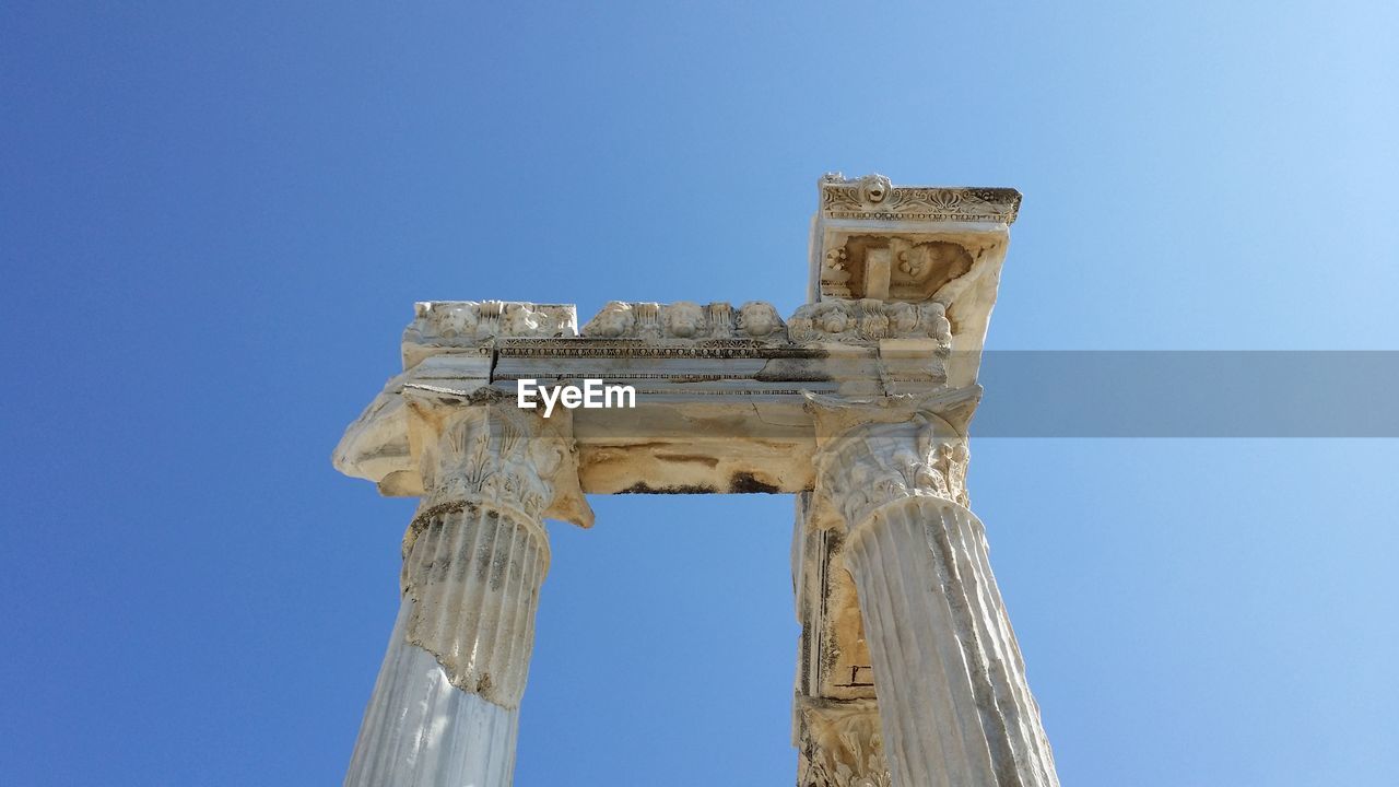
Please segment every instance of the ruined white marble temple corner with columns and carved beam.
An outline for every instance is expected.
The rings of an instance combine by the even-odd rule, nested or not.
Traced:
[[[790,493],[799,787],[1049,787],[968,508],[967,427],[1011,189],[820,181],[806,305],[417,304],[341,472],[421,499],[347,786],[511,784],[544,520],[585,494]],[[595,379],[635,408],[522,408]],[[681,503],[676,503],[681,504]]]

